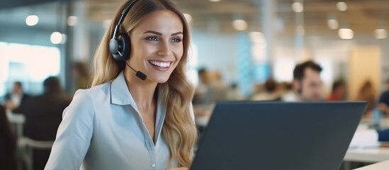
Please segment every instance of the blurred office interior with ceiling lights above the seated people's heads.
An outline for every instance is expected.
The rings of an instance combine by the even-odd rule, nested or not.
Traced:
[[[37,85],[49,75],[60,77],[72,91],[74,82],[67,71],[72,62],[91,62],[120,2],[19,0],[1,5],[0,96],[13,81],[39,94],[42,88]],[[254,84],[270,76],[291,81],[296,63],[315,60],[324,68],[323,94],[329,94],[339,78],[348,82],[349,98],[355,98],[354,91],[366,79],[377,94],[385,89],[389,1],[344,1],[343,6],[317,0],[177,3],[191,24],[188,74],[195,84],[196,69],[206,67],[249,95]]]

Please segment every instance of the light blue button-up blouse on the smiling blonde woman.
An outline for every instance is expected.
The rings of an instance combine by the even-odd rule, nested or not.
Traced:
[[[167,169],[170,152],[161,133],[167,108],[158,96],[154,145],[123,72],[112,82],[77,91],[45,169],[79,169],[83,162],[84,169]]]

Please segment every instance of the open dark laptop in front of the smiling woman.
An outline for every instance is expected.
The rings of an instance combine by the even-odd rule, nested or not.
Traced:
[[[365,108],[366,102],[219,102],[191,170],[337,170]]]

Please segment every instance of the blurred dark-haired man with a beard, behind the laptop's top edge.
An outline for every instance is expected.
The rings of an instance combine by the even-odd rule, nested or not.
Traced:
[[[321,101],[322,67],[308,61],[298,64],[293,70],[292,91],[283,96],[283,101]]]

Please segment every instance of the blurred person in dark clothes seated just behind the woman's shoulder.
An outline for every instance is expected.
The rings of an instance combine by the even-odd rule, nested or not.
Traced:
[[[30,98],[23,107],[26,116],[23,133],[32,140],[54,141],[62,112],[72,98],[65,94],[57,77],[45,79],[43,89],[42,95]],[[49,155],[50,149],[34,149],[33,169],[44,169]]]

